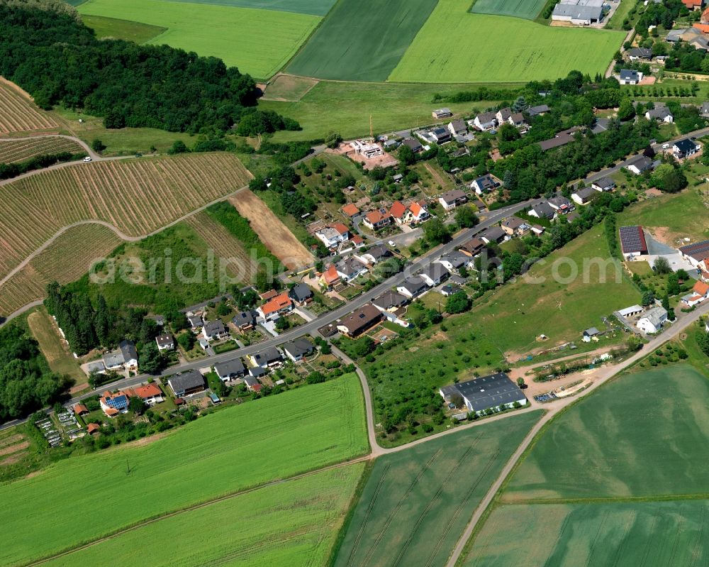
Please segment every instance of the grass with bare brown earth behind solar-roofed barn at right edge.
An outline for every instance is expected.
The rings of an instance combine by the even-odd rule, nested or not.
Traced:
[[[703,240],[709,238],[705,202],[709,202],[709,194],[704,185],[680,194],[661,195],[625,209],[618,215],[618,226],[640,224],[669,246],[681,246],[683,238]]]

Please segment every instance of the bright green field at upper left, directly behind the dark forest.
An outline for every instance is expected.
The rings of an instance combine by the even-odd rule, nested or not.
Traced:
[[[258,79],[283,67],[320,21],[300,13],[163,0],[88,0],[79,13],[167,28],[148,43],[214,55]]]

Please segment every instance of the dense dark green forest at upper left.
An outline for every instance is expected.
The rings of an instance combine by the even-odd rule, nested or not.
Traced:
[[[0,0],[0,75],[44,109],[62,105],[100,116],[106,128],[220,133],[296,129],[254,113],[254,79],[216,57],[167,45],[96,38],[66,4]]]

